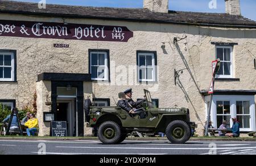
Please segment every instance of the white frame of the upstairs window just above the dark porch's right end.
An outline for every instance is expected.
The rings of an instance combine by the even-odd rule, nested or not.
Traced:
[[[92,65],[92,54],[97,54],[97,56],[102,53],[105,55],[105,65]],[[98,61],[97,61],[98,63]],[[109,67],[108,67],[108,53],[105,51],[92,51],[90,52],[90,74],[92,74],[92,67],[105,67],[104,78],[93,78],[94,81],[108,81],[109,80]],[[98,77],[98,68],[97,68],[97,77]]]

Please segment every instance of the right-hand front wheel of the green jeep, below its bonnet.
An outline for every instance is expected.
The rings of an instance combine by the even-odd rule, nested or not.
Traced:
[[[172,121],[166,127],[166,136],[171,143],[183,144],[191,137],[191,128],[184,121]]]

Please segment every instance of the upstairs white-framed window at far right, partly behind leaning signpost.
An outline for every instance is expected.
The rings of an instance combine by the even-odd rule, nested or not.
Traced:
[[[218,46],[216,45],[216,56],[220,59],[221,66],[216,77],[217,78],[232,78],[233,77],[233,63],[232,57],[233,47],[232,46]]]

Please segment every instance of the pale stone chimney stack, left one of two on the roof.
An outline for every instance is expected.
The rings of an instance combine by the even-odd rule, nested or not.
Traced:
[[[144,0],[143,7],[152,12],[168,13],[168,0]]]

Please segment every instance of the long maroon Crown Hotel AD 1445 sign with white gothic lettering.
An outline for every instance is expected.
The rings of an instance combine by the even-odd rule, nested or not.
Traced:
[[[0,20],[0,36],[127,42],[133,32],[122,26]]]

